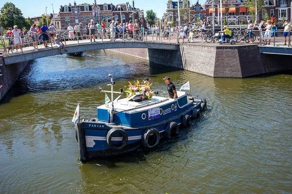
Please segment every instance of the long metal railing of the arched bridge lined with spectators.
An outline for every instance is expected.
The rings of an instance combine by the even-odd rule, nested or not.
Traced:
[[[47,32],[48,41],[44,41],[42,34],[33,33],[21,36],[1,38],[0,44],[3,45],[6,56],[23,54],[25,52],[38,52],[44,49],[58,49],[55,45],[56,34],[63,42],[65,47],[83,45],[83,44],[100,44],[104,42],[146,42],[158,44],[179,44],[178,34],[175,32],[160,31],[158,34],[155,30],[144,29],[79,29],[74,31],[63,30],[55,31],[54,34]],[[45,44],[47,43],[47,44]],[[47,46],[47,47],[46,47]],[[16,52],[18,51],[18,52]]]

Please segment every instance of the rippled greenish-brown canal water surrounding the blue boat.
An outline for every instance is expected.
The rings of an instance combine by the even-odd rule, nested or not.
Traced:
[[[0,193],[292,193],[292,75],[211,78],[109,50],[83,58],[35,60],[0,102]],[[71,122],[96,117],[98,86],[115,90],[148,77],[166,94],[165,76],[207,111],[154,150],[82,164]]]

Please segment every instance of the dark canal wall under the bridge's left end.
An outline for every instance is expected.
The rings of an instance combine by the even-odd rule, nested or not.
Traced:
[[[0,56],[0,100],[8,92],[28,63],[29,61],[4,65],[3,57]]]

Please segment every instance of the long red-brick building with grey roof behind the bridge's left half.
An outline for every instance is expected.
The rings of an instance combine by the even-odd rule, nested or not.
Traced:
[[[62,29],[67,28],[69,23],[85,23],[86,21],[90,22],[91,19],[99,23],[104,21],[109,25],[112,20],[119,19],[120,22],[126,23],[129,20],[139,19],[140,17],[139,9],[134,7],[134,1],[132,5],[128,2],[117,5],[112,3],[96,4],[96,0],[94,0],[94,4],[77,5],[74,1],[73,5],[71,3],[69,5],[61,5],[59,11]]]

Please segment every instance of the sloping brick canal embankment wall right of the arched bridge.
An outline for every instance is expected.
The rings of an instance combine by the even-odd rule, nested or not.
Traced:
[[[211,77],[246,78],[292,68],[290,55],[261,54],[257,44],[181,44],[180,49],[110,49]]]

